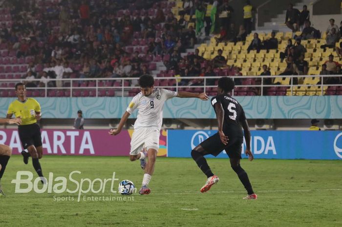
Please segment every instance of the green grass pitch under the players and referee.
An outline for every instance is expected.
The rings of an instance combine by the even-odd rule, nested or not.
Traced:
[[[255,201],[242,200],[246,192],[228,159],[208,159],[208,163],[220,182],[204,194],[199,189],[206,178],[192,159],[157,158],[150,195],[113,194],[108,184],[104,193],[85,196],[119,200],[77,202],[78,195],[67,192],[16,194],[11,180],[17,171],[34,169],[31,160],[24,165],[21,156],[13,156],[1,180],[6,197],[0,197],[0,227],[342,226],[341,161],[242,160],[258,195]],[[143,177],[140,162],[130,162],[128,157],[44,156],[41,164],[45,176],[53,172],[54,177],[68,178],[79,170],[82,174],[73,177],[78,180],[111,178],[116,172],[116,178],[131,180],[138,189]],[[99,186],[96,182],[94,188]],[[57,202],[58,197],[74,201]],[[124,197],[130,201],[120,200]]]

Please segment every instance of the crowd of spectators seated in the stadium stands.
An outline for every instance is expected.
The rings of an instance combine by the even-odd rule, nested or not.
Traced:
[[[2,7],[9,9],[11,26],[1,24],[0,45],[15,51],[18,59],[34,56],[25,78],[41,81],[27,82],[29,87],[43,87],[46,83],[50,87],[64,86],[62,81],[49,81],[52,78],[80,78],[80,83],[83,78],[136,78],[156,70],[151,62],[163,62],[167,72],[176,77],[215,76],[217,68],[225,68],[227,76],[242,76],[240,67],[227,64],[222,49],[211,60],[198,49],[185,56],[181,53],[213,34],[217,43],[247,42],[253,30],[251,2],[246,1],[243,24],[238,26],[232,23],[234,9],[228,0],[184,0],[177,12],[171,10],[174,4],[153,0],[5,0]],[[309,19],[306,6],[299,12],[289,5],[285,23],[297,34],[288,40],[284,50],[279,50],[281,62],[286,62],[280,75],[308,74],[306,48],[301,41],[321,38],[321,32],[311,26]],[[321,48],[336,47],[337,55],[342,57],[342,44],[336,46],[342,35],[342,21],[338,27],[331,19],[325,33],[326,43]],[[263,41],[258,33],[253,36],[248,52],[278,50],[275,32]],[[340,63],[333,57],[322,65],[321,75],[342,74]],[[262,69],[261,75],[271,75],[267,65]],[[325,82],[341,83],[341,78],[327,78]],[[184,78],[179,82],[203,83]],[[273,80],[265,79],[263,83],[273,84]],[[214,84],[215,80],[207,80],[206,85]],[[129,85],[135,86],[136,82]]]

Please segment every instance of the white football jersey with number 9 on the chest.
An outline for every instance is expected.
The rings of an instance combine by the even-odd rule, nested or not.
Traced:
[[[127,108],[127,112],[130,114],[138,109],[134,129],[156,128],[160,130],[163,123],[164,103],[176,96],[177,92],[166,89],[154,89],[150,96],[144,96],[141,92],[134,96]]]

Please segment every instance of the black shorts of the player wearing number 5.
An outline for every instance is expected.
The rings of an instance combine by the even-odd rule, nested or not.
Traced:
[[[218,132],[203,141],[200,145],[208,153],[217,156],[223,150],[226,151],[229,158],[241,159],[243,137],[230,137],[228,144],[222,144]]]

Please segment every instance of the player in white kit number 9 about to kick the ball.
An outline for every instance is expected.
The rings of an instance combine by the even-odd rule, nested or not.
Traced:
[[[117,129],[111,129],[109,134],[117,135],[122,130],[129,115],[138,109],[138,117],[134,123],[134,132],[130,142],[129,160],[140,160],[141,167],[145,169],[142,187],[139,194],[150,194],[149,183],[154,171],[154,164],[159,149],[160,129],[163,122],[163,107],[165,101],[173,97],[198,98],[208,100],[205,93],[191,93],[185,91],[170,91],[166,89],[154,89],[154,79],[150,75],[139,78],[141,92],[129,103],[128,108],[121,118]],[[146,162],[148,158],[149,162]]]

